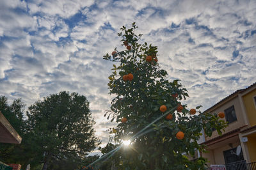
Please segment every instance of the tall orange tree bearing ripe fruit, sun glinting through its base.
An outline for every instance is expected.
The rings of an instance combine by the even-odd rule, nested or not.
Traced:
[[[115,50],[103,58],[115,62],[109,75],[110,94],[115,96],[104,116],[118,123],[111,130],[115,142],[127,148],[116,150],[118,169],[198,169],[205,158],[190,162],[186,155],[204,151],[196,141],[202,130],[211,136],[212,128],[219,134],[227,125],[217,114],[202,113],[199,107],[188,109],[181,101],[188,97],[179,80],[168,81],[166,70],[157,63],[157,47],[141,43],[136,24],[123,26],[118,36],[124,50]],[[153,122],[153,123],[152,123]],[[186,154],[184,154],[186,153]],[[113,166],[113,165],[112,165]]]

